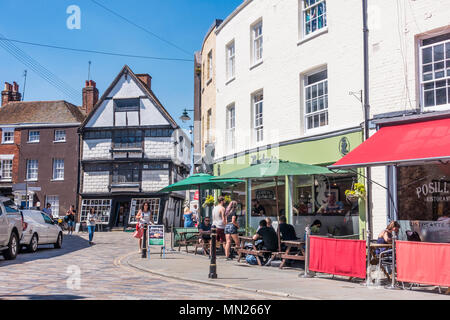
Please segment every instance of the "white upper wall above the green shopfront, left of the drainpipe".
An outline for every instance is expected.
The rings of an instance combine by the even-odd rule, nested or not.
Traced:
[[[256,147],[251,142],[251,94],[264,90],[264,141],[280,141],[358,126],[361,103],[349,91],[363,88],[361,1],[327,1],[328,32],[300,42],[299,1],[254,0],[217,34],[216,158],[225,150],[226,106],[236,107],[235,152]],[[250,26],[262,17],[263,63],[251,69]],[[226,84],[226,45],[235,41],[236,78]],[[329,126],[305,132],[300,75],[326,65]]]

